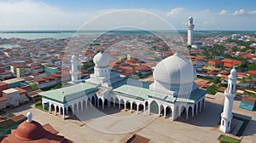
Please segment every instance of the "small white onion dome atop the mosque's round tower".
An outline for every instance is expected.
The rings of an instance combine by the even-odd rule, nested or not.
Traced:
[[[100,66],[100,67],[108,66],[108,62],[109,62],[108,55],[100,52],[94,56],[93,62],[95,63],[95,66]]]

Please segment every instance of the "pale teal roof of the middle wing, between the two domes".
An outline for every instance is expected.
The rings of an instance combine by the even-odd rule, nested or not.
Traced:
[[[149,89],[144,89],[144,88],[125,84],[120,86],[119,88],[113,89],[113,92],[125,97],[129,97],[131,99],[147,100],[148,99],[147,94],[150,91]]]

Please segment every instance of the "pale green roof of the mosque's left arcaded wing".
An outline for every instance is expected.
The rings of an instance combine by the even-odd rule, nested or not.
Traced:
[[[90,83],[79,83],[62,89],[54,89],[39,93],[49,100],[55,100],[59,103],[67,103],[68,101],[76,100],[85,95],[96,92],[98,89],[96,85]]]

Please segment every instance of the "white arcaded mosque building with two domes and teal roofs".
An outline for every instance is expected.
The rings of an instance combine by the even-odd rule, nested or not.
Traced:
[[[137,84],[141,81],[127,82],[119,73],[110,72],[108,61],[106,54],[96,54],[95,73],[90,79],[67,88],[39,93],[43,105],[49,107],[49,112],[63,118],[71,112],[83,112],[88,106],[104,109],[106,105],[113,105],[125,111],[157,114],[172,120],[182,114],[187,119],[194,117],[205,106],[207,91],[198,89],[194,82],[194,66],[179,54],[160,61],[154,69],[154,83],[143,83],[142,86]]]

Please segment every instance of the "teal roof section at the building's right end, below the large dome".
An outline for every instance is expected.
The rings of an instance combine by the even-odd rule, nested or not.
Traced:
[[[207,90],[204,89],[195,89],[191,92],[189,98],[180,98],[177,97],[177,102],[188,102],[188,103],[195,103],[197,100],[199,100],[202,96],[207,94]]]

